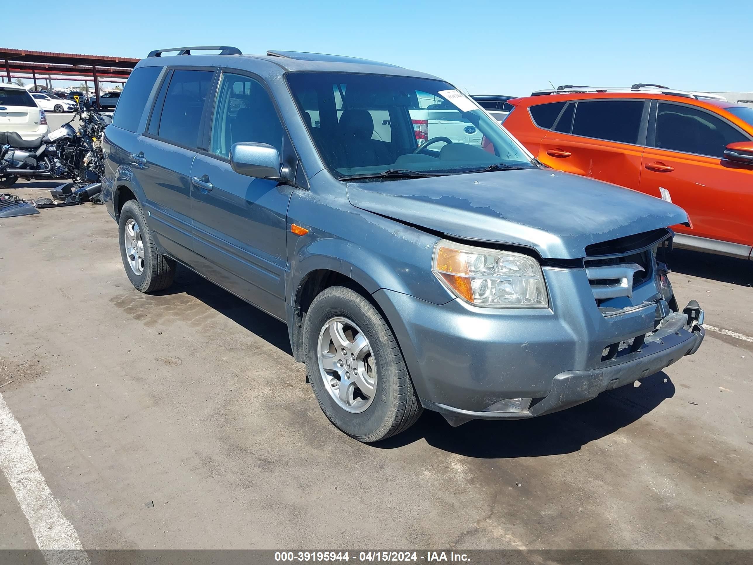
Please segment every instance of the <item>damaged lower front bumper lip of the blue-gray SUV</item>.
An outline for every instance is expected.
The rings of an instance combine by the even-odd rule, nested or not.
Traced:
[[[638,350],[629,350],[589,371],[564,371],[552,380],[550,392],[542,399],[509,399],[490,406],[485,411],[472,412],[433,402],[424,408],[440,412],[451,426],[469,420],[520,420],[551,414],[595,399],[600,392],[634,383],[669,367],[686,355],[696,353],[706,330],[703,310],[696,301],[687,304],[682,312],[669,314],[656,330],[645,335]],[[504,407],[504,411],[499,411]]]

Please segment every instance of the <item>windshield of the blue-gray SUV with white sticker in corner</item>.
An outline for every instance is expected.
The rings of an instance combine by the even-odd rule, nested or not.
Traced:
[[[535,167],[495,120],[446,82],[325,72],[292,72],[287,81],[338,179]]]

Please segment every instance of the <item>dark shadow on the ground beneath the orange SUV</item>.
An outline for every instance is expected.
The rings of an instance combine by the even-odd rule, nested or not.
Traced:
[[[690,249],[672,249],[672,252],[666,253],[661,260],[665,261],[674,273],[700,276],[703,279],[729,282],[733,285],[753,286],[753,261]],[[672,279],[672,275],[669,278]]]

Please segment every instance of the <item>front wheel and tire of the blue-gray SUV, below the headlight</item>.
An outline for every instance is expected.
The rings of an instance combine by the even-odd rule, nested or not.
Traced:
[[[370,443],[408,429],[422,413],[389,325],[369,301],[332,286],[303,328],[306,372],[322,411],[339,429]]]

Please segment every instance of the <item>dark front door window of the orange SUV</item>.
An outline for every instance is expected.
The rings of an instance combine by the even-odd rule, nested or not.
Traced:
[[[741,141],[748,139],[730,124],[706,111],[659,102],[657,148],[722,158],[727,144]]]

